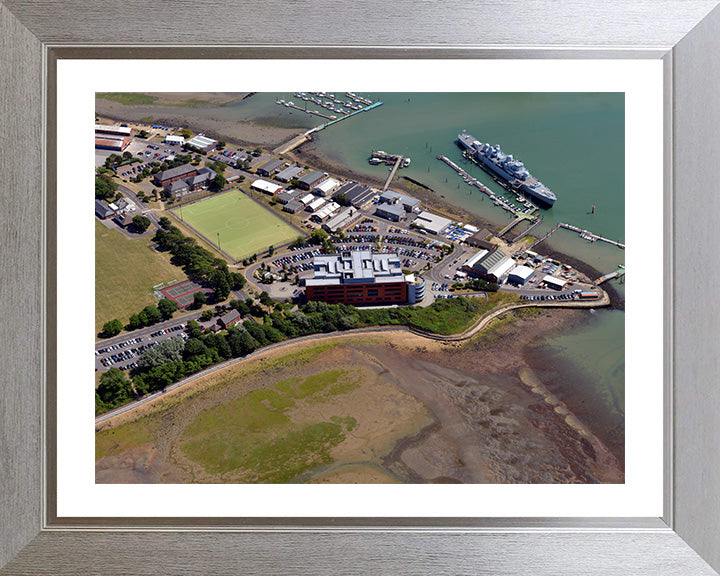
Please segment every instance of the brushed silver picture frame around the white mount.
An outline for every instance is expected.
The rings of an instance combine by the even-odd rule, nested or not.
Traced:
[[[0,574],[717,576],[718,3],[0,0]],[[58,517],[55,70],[120,57],[661,59],[663,516]]]

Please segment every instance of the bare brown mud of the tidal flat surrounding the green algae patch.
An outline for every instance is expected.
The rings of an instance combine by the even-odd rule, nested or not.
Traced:
[[[582,322],[585,314],[557,310],[501,322],[464,345],[400,332],[343,335],[302,366],[276,360],[307,344],[271,351],[168,393],[160,412],[142,408],[102,426],[101,434],[115,433],[117,440],[96,462],[96,479],[248,481],[242,466],[214,474],[188,458],[180,448],[185,429],[201,411],[254,389],[273,388],[288,375],[342,367],[358,386],[298,401],[288,415],[296,424],[336,415],[352,417],[357,425],[331,449],[330,462],[308,469],[296,482],[623,482],[622,462],[606,447],[604,430],[590,430],[550,394],[537,376],[544,367],[530,366],[523,354],[538,336]],[[173,402],[181,396],[182,402]],[[117,426],[141,414],[146,417],[132,426],[153,430],[152,439],[125,446],[128,428]]]

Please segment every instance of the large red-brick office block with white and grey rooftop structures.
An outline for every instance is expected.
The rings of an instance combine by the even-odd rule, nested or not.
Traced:
[[[405,304],[408,280],[397,254],[342,252],[313,259],[313,277],[305,280],[305,295],[330,304]]]

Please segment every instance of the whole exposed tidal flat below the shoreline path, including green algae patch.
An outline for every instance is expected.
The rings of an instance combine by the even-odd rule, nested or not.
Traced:
[[[463,344],[290,344],[99,425],[96,481],[621,483],[622,426],[589,428],[530,353],[585,314],[525,313]]]

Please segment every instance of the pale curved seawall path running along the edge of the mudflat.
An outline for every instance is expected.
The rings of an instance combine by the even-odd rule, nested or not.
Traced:
[[[227,360],[225,362],[222,362],[220,364],[216,364],[215,366],[212,366],[206,370],[203,370],[202,372],[198,372],[197,374],[193,374],[192,376],[188,376],[187,378],[184,378],[182,380],[179,380],[178,382],[175,382],[174,384],[171,384],[164,390],[161,390],[159,392],[154,392],[150,394],[149,396],[145,396],[141,398],[140,400],[136,400],[135,402],[131,402],[130,404],[125,404],[124,406],[121,406],[120,408],[117,408],[115,410],[112,410],[110,412],[106,412],[105,414],[101,414],[100,416],[95,418],[95,424],[100,424],[102,422],[105,422],[106,420],[109,420],[110,418],[114,416],[118,416],[119,414],[124,414],[125,412],[129,412],[130,410],[133,410],[134,408],[137,408],[138,406],[142,406],[143,404],[147,404],[148,402],[155,400],[156,398],[162,396],[169,390],[175,390],[176,388],[180,388],[181,386],[184,386],[185,384],[188,384],[190,382],[193,382],[194,380],[197,380],[198,378],[201,378],[203,376],[207,376],[208,374],[212,374],[213,372],[217,370],[221,370],[223,368],[226,368],[228,366],[232,366],[233,364],[237,364],[238,362],[242,362],[243,360],[248,360],[249,358],[254,358],[255,356],[259,356],[261,354],[264,354],[265,352],[268,352],[270,350],[275,350],[277,348],[282,348],[284,346],[289,346],[290,344],[297,344],[298,342],[307,342],[309,340],[322,340],[325,338],[331,338],[335,336],[339,336],[342,334],[367,334],[367,333],[378,333],[378,332],[411,332],[413,334],[416,334],[418,336],[421,336],[423,338],[428,338],[431,340],[442,340],[445,342],[459,342],[462,340],[467,340],[469,338],[472,338],[475,334],[480,332],[482,329],[484,329],[491,320],[496,318],[497,316],[504,314],[510,310],[514,310],[517,308],[597,308],[600,306],[609,306],[610,305],[610,297],[607,295],[606,292],[603,291],[603,297],[600,300],[582,300],[582,301],[576,301],[572,300],[569,302],[559,302],[559,301],[542,301],[542,302],[528,302],[528,301],[521,301],[521,302],[513,302],[511,304],[506,304],[504,306],[501,306],[500,308],[497,308],[495,310],[492,310],[488,312],[487,314],[483,315],[478,319],[478,321],[473,324],[470,328],[465,330],[465,332],[462,332],[460,334],[452,334],[449,336],[444,336],[441,334],[434,334],[432,332],[425,332],[423,330],[419,330],[417,328],[409,328],[407,326],[375,326],[372,328],[356,328],[354,330],[345,330],[342,332],[329,332],[327,334],[310,334],[308,336],[301,336],[299,338],[293,338],[290,340],[283,340],[282,342],[277,342],[275,344],[270,344],[269,346],[265,346],[264,348],[259,348],[258,350],[255,350],[254,352],[251,352],[247,356],[241,356],[239,358],[232,358],[231,360]]]

